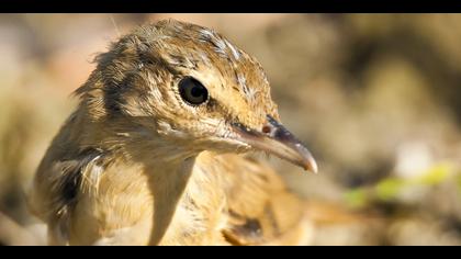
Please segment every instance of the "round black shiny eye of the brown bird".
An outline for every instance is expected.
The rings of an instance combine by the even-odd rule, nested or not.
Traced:
[[[199,105],[209,99],[209,91],[196,79],[185,77],[179,81],[179,93],[189,104]]]

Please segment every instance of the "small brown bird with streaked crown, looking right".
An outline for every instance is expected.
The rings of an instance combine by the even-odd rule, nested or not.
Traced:
[[[30,194],[54,245],[296,245],[303,203],[262,150],[317,171],[260,64],[213,30],[160,21],[100,54]]]

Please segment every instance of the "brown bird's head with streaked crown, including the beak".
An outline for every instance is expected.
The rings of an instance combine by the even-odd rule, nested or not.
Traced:
[[[126,145],[184,154],[256,149],[317,170],[280,123],[260,64],[213,30],[160,21],[122,37],[97,61],[77,91],[81,105]]]

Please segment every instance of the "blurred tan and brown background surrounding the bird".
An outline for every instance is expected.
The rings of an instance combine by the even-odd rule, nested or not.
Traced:
[[[318,174],[313,245],[461,245],[461,15],[0,14],[0,245],[45,245],[34,170],[94,55],[145,22],[210,26],[256,56]],[[261,159],[266,159],[261,157]]]

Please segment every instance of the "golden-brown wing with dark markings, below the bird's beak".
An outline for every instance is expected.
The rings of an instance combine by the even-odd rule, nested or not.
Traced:
[[[231,245],[306,245],[312,236],[303,202],[269,167],[237,155],[220,155],[226,192],[227,224],[222,229]]]

